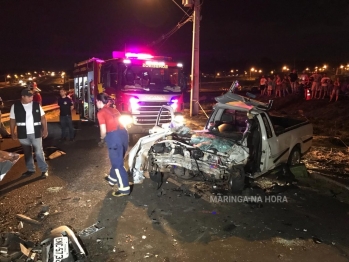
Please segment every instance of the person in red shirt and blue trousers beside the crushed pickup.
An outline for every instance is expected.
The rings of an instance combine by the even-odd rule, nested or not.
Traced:
[[[118,185],[118,191],[113,192],[113,196],[127,196],[130,194],[130,186],[124,167],[124,157],[128,148],[128,133],[119,122],[120,112],[110,106],[110,101],[107,94],[97,95],[101,143],[105,140],[111,162],[110,173],[106,179],[111,186]]]

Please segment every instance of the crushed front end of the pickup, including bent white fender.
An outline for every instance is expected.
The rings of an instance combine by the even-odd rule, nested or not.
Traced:
[[[219,137],[208,130],[193,131],[176,123],[158,125],[153,132],[139,139],[130,151],[134,183],[142,182],[148,172],[158,182],[169,173],[183,179],[225,181],[232,190],[236,185],[233,180],[239,179],[241,187],[249,157],[245,141]]]

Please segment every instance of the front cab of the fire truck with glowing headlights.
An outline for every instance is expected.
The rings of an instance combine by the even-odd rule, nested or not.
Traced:
[[[114,52],[101,67],[104,90],[115,97],[130,134],[148,133],[162,105],[184,109],[186,78],[182,64],[168,57]]]

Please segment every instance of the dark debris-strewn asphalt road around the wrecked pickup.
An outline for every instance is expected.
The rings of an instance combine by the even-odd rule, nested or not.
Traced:
[[[82,123],[75,142],[57,142],[58,123],[50,124],[49,134],[45,150],[66,155],[48,161],[44,180],[39,171],[21,178],[23,158],[13,166],[0,182],[0,232],[39,241],[57,226],[79,232],[99,221],[100,231],[81,238],[87,261],[94,262],[349,261],[349,204],[340,197],[268,178],[261,182],[269,195],[283,201],[213,203],[210,197],[226,191],[176,179],[158,190],[146,179],[130,196],[115,198],[103,179],[110,164],[106,149],[97,146],[96,126]],[[1,149],[21,152],[18,142],[7,139]],[[243,195],[255,193],[265,194],[255,186]],[[16,214],[39,220],[43,209],[49,214],[41,225],[18,228]]]

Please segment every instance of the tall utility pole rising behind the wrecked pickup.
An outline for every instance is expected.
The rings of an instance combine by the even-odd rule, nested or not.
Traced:
[[[191,65],[190,116],[199,113],[199,47],[200,47],[200,0],[182,0],[185,7],[193,7],[193,47]]]

